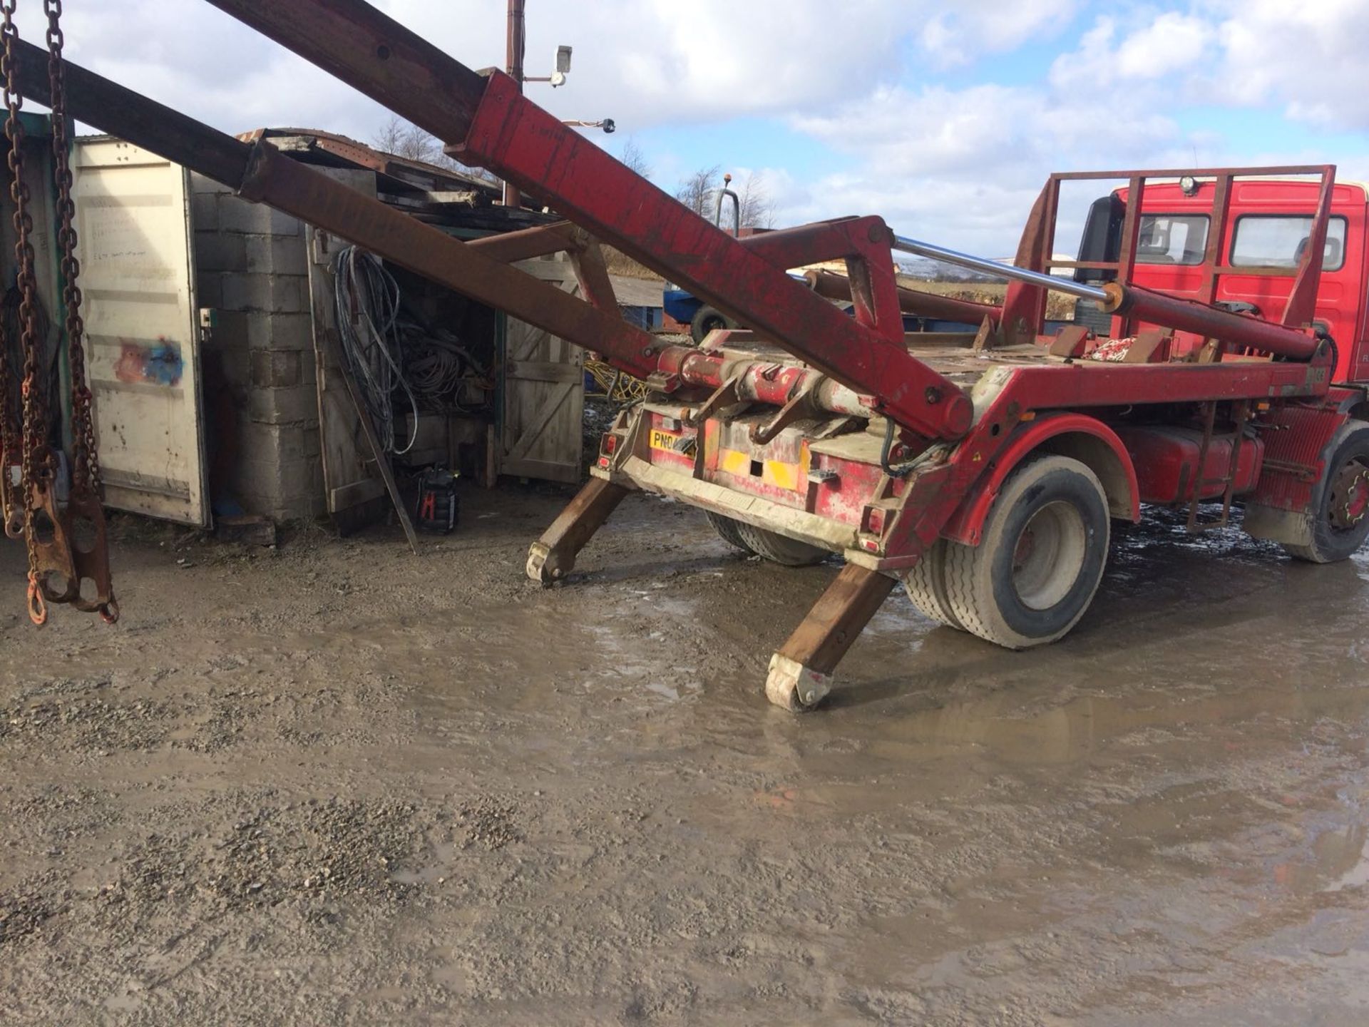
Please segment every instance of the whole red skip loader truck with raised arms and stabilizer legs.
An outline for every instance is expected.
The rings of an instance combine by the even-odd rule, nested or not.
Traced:
[[[769,663],[765,693],[809,709],[895,587],[928,618],[1025,649],[1092,601],[1113,522],[1144,504],[1202,531],[1243,527],[1328,563],[1369,533],[1365,189],[1335,168],[1053,175],[1013,267],[852,216],[734,238],[519,93],[361,0],[211,0],[565,218],[460,242],[296,163],[66,66],[74,118],[216,178],[387,260],[594,349],[650,388],[593,477],[533,544],[564,581],[630,490],[700,507],[738,549],[783,566],[839,556]],[[25,94],[51,101],[45,53]],[[34,49],[34,53],[29,51]],[[37,55],[37,56],[34,56]],[[1061,185],[1121,179],[1080,257],[1054,253]],[[611,244],[743,331],[663,341],[622,319]],[[580,297],[511,262],[567,252]],[[1009,278],[999,305],[899,290],[894,255]],[[843,260],[854,316],[787,268]],[[828,286],[831,283],[828,282]],[[1047,290],[1087,316],[1043,331]],[[905,337],[902,312],[954,307],[973,334]]]

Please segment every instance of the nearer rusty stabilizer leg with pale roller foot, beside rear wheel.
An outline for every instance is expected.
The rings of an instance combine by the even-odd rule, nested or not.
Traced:
[[[794,712],[812,709],[831,692],[832,671],[875,616],[895,578],[846,564],[804,623],[771,657],[765,697]]]

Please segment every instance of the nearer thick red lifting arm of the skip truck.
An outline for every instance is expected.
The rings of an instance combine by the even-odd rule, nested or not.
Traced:
[[[882,334],[836,311],[530,103],[508,75],[476,75],[364,0],[209,3],[446,141],[467,163],[546,197],[601,242],[824,374],[878,396],[882,409],[906,429],[949,440],[968,430],[969,397],[908,353],[901,326],[880,325],[887,331]],[[890,233],[884,227],[879,234],[823,256],[869,257],[883,245],[884,256],[875,263],[888,264],[891,289]]]

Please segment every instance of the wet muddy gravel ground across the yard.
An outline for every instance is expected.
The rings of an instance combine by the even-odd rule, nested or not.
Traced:
[[[0,555],[0,1023],[1362,1024],[1369,559],[1114,544],[1065,642],[895,593],[821,712],[834,575],[631,498],[240,552],[138,522],[123,620]]]

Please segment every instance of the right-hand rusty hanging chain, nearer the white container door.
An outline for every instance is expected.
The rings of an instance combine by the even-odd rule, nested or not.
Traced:
[[[77,230],[71,220],[71,166],[67,153],[66,77],[62,63],[62,0],[44,0],[48,15],[48,81],[52,88],[52,167],[57,186],[57,244],[62,246],[62,303],[67,315],[67,363],[71,370],[71,487],[94,493],[100,487],[100,457],[94,444],[90,388],[85,374],[85,322],[81,319],[81,262],[77,260]]]

